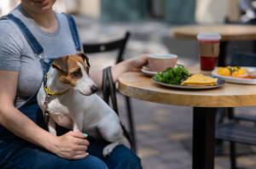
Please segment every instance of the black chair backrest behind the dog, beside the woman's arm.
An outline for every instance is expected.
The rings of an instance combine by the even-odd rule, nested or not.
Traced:
[[[125,33],[125,37],[122,37],[111,42],[102,42],[102,43],[83,43],[84,54],[92,53],[102,53],[113,50],[119,50],[119,53],[116,57],[116,64],[123,61],[123,54],[125,51],[125,46],[128,38],[130,37],[130,32]]]

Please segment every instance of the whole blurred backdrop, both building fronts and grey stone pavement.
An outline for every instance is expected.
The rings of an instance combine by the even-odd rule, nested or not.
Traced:
[[[20,0],[0,0],[0,15],[20,3]],[[175,39],[172,28],[179,25],[254,24],[253,0],[57,0],[55,10],[73,14],[82,42],[108,42],[131,37],[125,48],[125,59],[139,54],[177,54],[178,63],[197,65],[198,42]],[[234,46],[253,51],[253,42],[229,42],[226,54]],[[90,54],[91,69],[113,65],[115,54]],[[125,101],[118,95],[121,120],[127,126]],[[154,104],[131,99],[134,127],[137,137],[137,155],[145,169],[189,169],[192,166],[192,107]],[[253,114],[253,108],[238,108]],[[226,145],[226,144],[224,144]],[[239,164],[256,168],[256,149],[238,145]],[[249,155],[249,156],[247,156]],[[230,167],[229,155],[224,146],[215,158],[215,168]]]

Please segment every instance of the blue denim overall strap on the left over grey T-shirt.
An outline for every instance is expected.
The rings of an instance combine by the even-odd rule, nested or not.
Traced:
[[[44,48],[42,48],[36,37],[32,35],[32,32],[28,30],[26,25],[19,18],[15,17],[13,14],[8,14],[1,17],[0,20],[13,20],[15,24],[18,25],[18,27],[20,28],[20,31],[22,31],[22,33],[26,37],[26,40],[30,43],[35,54],[38,55],[44,52]]]

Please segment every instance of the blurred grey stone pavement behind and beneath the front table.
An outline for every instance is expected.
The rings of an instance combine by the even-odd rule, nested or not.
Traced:
[[[125,59],[143,53],[172,53],[178,55],[178,63],[195,65],[198,63],[197,42],[172,39],[172,25],[156,21],[132,23],[101,24],[96,20],[82,16],[75,17],[79,25],[82,42],[106,42],[122,37],[125,31],[131,31]],[[113,65],[115,53],[102,55],[90,54],[91,69]],[[127,126],[125,100],[118,95],[120,117]],[[192,166],[192,107],[154,104],[143,100],[131,99],[134,115],[137,155],[145,169],[189,169]],[[253,108],[237,108],[253,115]],[[228,145],[224,143],[222,155],[215,158],[215,168],[230,168]],[[253,146],[238,144],[239,166],[256,168],[256,149]],[[247,155],[249,154],[249,155]]]

